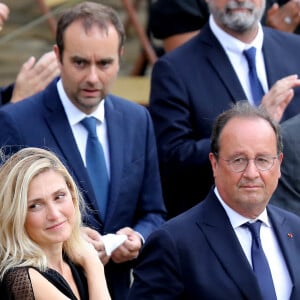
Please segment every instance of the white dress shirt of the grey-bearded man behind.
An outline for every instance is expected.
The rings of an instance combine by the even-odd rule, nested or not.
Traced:
[[[248,62],[243,54],[243,51],[251,47],[256,48],[257,76],[259,78],[259,81],[261,82],[263,90],[267,92],[269,90],[269,87],[268,87],[264,57],[262,53],[264,33],[261,25],[259,24],[257,35],[255,39],[251,42],[251,44],[245,44],[242,41],[231,36],[230,34],[226,33],[223,29],[221,29],[216,24],[212,15],[209,18],[209,25],[212,32],[214,33],[214,35],[222,45],[223,49],[225,50],[231,62],[231,65],[237,77],[239,78],[239,81],[243,87],[243,90],[247,96],[248,101],[251,104],[253,104],[254,102],[253,102],[251,87],[248,78],[249,67],[248,67]],[[239,99],[239,100],[246,100],[246,99]]]

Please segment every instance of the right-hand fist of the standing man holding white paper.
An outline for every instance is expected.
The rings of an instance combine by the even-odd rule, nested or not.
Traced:
[[[135,259],[142,247],[141,236],[129,227],[120,229],[116,234],[127,235],[127,240],[112,253],[112,260],[115,263],[122,263]]]

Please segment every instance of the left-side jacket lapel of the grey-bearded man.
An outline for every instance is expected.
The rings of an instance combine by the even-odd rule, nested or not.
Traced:
[[[204,44],[204,48],[207,48],[204,52],[207,55],[209,64],[211,64],[213,70],[226,86],[233,102],[247,99],[230,60],[208,24],[201,30],[201,34],[198,37],[201,40],[201,43]]]

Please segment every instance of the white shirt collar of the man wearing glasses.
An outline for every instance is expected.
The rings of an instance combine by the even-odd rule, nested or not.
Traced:
[[[253,222],[253,221],[257,221],[257,220],[262,221],[262,223],[264,223],[267,227],[272,227],[271,223],[270,223],[270,220],[268,218],[266,208],[263,210],[263,212],[255,220],[252,220],[252,219],[249,219],[249,218],[246,218],[246,217],[240,215],[235,210],[233,210],[231,207],[229,207],[223,201],[223,199],[221,198],[217,187],[214,188],[214,192],[215,192],[218,200],[220,201],[221,205],[223,206],[223,208],[224,208],[224,210],[225,210],[225,212],[226,212],[226,214],[227,214],[227,216],[230,220],[230,223],[231,223],[231,225],[234,229],[236,229],[237,227],[242,226],[243,224],[245,224],[247,222]]]

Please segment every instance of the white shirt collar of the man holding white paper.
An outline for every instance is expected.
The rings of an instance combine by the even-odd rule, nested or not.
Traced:
[[[92,114],[86,115],[84,112],[78,109],[69,99],[69,97],[67,96],[64,90],[61,79],[59,79],[57,82],[57,90],[71,126],[80,123],[80,121],[82,121],[82,119],[84,119],[87,116],[94,117],[101,123],[104,122],[105,120],[104,99],[100,102],[97,109]]]

